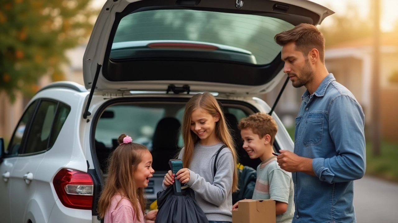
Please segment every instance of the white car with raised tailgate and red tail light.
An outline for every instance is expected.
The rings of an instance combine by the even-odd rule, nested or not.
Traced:
[[[201,91],[222,104],[241,163],[255,168],[259,160],[242,149],[236,124],[270,113],[256,96],[286,78],[273,37],[332,13],[306,0],[107,0],[84,54],[85,86],[42,88],[7,148],[1,140],[0,221],[99,222],[106,161],[121,133],[152,152],[156,172],[146,195],[155,200],[182,146],[184,104]],[[272,115],[275,150],[293,150]]]

